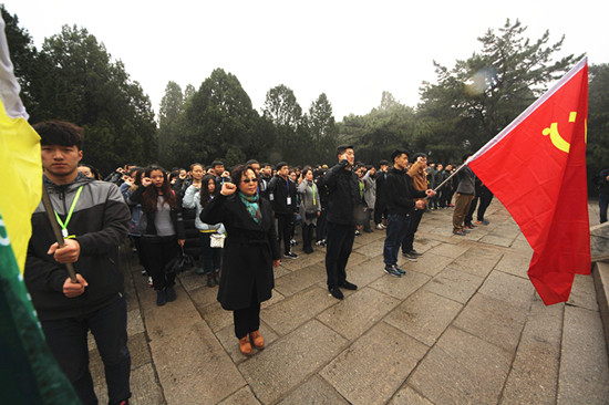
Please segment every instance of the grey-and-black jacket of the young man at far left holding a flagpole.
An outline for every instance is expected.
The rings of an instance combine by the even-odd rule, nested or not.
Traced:
[[[68,279],[64,264],[47,255],[55,242],[42,202],[32,215],[32,237],[28,247],[24,280],[40,320],[73,318],[95,311],[123,293],[123,274],[118,267],[118,245],[127,235],[130,210],[116,185],[79,175],[73,183],[58,186],[44,178],[53,208],[65,221],[70,206],[83,186],[72,218],[69,235],[81,247],[73,263],[76,273],[87,281],[84,293],[76,298],[63,294]]]

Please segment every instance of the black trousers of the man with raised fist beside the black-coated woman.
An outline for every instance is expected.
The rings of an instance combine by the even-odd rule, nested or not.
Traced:
[[[354,225],[340,225],[328,221],[326,246],[326,273],[328,288],[338,287],[347,281],[347,261],[355,239]]]

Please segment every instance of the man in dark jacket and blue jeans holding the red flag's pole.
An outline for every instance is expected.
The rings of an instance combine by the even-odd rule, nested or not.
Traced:
[[[424,200],[415,202],[414,198],[433,197],[435,191],[432,189],[420,191],[414,188],[412,178],[405,172],[409,164],[409,155],[405,150],[393,150],[391,159],[393,160],[393,167],[389,170],[383,185],[386,190],[388,212],[383,261],[385,263],[384,271],[388,274],[401,277],[405,271],[398,266],[398,253],[409,229],[410,216],[414,208],[425,208]]]

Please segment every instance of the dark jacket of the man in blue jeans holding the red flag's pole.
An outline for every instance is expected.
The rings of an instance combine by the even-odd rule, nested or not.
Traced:
[[[383,188],[388,215],[409,215],[414,209],[414,198],[425,197],[425,191],[414,188],[406,170],[395,167],[389,169]]]

